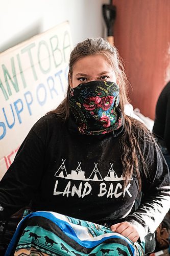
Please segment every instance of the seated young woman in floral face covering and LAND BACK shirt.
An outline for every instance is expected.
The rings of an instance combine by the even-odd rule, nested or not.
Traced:
[[[144,124],[124,113],[128,82],[106,40],[89,38],[75,47],[68,80],[66,98],[32,127],[0,183],[1,219],[30,201],[35,212],[21,224],[15,255],[26,249],[30,255],[30,248],[47,255],[46,247],[52,255],[142,255],[144,237],[170,204],[162,153]],[[46,224],[45,211],[53,212]],[[74,232],[66,240],[69,228]],[[74,247],[75,232],[81,242]]]

